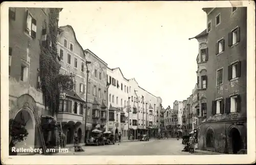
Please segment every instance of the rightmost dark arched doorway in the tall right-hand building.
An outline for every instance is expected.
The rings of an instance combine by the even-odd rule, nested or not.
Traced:
[[[235,127],[231,128],[228,137],[229,144],[232,146],[232,152],[237,154],[242,149],[242,139],[239,130]]]

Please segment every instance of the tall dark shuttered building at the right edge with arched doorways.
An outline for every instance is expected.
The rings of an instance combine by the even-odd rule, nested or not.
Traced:
[[[207,14],[207,113],[199,149],[247,148],[247,8],[204,8]]]

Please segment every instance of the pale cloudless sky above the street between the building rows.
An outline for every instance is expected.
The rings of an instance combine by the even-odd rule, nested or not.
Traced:
[[[86,2],[60,12],[59,26],[71,25],[83,49],[90,49],[109,68],[120,67],[125,78],[162,105],[185,100],[197,82],[198,41],[206,29],[202,6],[175,2]]]

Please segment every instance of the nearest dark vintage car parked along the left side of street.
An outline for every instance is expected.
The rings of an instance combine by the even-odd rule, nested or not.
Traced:
[[[94,129],[91,132],[91,137],[86,140],[86,146],[91,145],[105,145],[105,137],[103,136],[103,133],[101,130]]]

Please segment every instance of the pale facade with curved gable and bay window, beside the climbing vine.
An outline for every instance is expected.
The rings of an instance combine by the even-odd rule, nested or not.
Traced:
[[[73,74],[73,90],[60,98],[57,122],[61,122],[62,131],[66,134],[66,144],[73,144],[73,136],[77,131],[80,143],[84,138],[83,105],[86,99],[86,56],[82,46],[76,39],[70,25],[58,28],[57,49],[60,58],[60,73]]]

